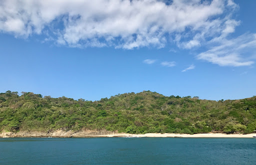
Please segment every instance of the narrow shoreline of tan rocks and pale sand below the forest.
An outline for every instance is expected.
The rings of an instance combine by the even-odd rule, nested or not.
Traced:
[[[57,130],[52,132],[38,131],[19,131],[19,132],[1,132],[0,137],[242,137],[253,138],[256,133],[249,134],[225,134],[225,133],[198,133],[198,134],[178,134],[178,133],[145,133],[145,134],[130,134],[118,133],[117,131],[107,130],[84,130],[84,131],[64,131]]]

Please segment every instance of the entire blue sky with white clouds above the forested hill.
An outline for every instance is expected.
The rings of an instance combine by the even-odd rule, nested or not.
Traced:
[[[0,92],[256,95],[255,0],[0,0]]]

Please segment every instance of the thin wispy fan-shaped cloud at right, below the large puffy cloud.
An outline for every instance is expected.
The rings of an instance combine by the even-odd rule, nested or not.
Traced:
[[[196,57],[220,66],[249,66],[254,62],[246,57],[249,58],[255,51],[256,34],[243,34],[237,38],[222,39]]]

